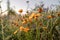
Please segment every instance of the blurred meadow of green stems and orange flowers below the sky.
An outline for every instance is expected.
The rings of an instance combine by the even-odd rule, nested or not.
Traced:
[[[60,6],[56,11],[41,6],[23,16],[23,9],[16,14],[8,8],[8,15],[0,16],[0,40],[60,40]]]

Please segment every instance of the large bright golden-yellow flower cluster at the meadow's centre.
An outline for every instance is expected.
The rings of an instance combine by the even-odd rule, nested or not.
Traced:
[[[32,23],[32,19],[38,19],[38,17],[42,16],[40,13],[32,13],[28,18],[23,18],[22,24],[27,24],[28,22]]]

